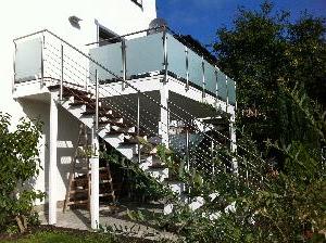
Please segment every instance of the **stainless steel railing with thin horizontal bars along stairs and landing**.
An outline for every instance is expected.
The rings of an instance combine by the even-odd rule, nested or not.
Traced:
[[[24,42],[26,43],[25,40],[32,42],[27,42],[27,47],[18,50],[21,47],[20,44],[24,44]],[[41,68],[33,66],[34,69],[32,68],[32,71],[34,72],[34,75],[32,76],[34,77],[32,78],[39,79],[42,86],[46,82],[54,80],[55,84],[60,85],[61,100],[63,94],[63,87],[71,87],[83,91],[89,91],[95,94],[96,104],[93,108],[96,111],[95,122],[97,128],[99,127],[100,122],[99,102],[101,102],[101,104],[103,105],[111,106],[124,119],[127,119],[129,123],[131,123],[137,129],[137,135],[140,135],[141,131],[145,131],[146,133],[151,135],[151,137],[161,139],[162,136],[171,137],[170,124],[167,122],[163,123],[161,127],[158,126],[160,122],[158,111],[164,110],[170,114],[170,116],[174,116],[175,119],[183,122],[188,128],[191,128],[193,130],[193,135],[196,133],[197,136],[200,136],[203,139],[210,141],[209,144],[206,144],[208,142],[201,142],[201,145],[198,146],[198,141],[191,140],[191,135],[189,135],[191,132],[187,131],[187,135],[185,137],[185,146],[183,146],[183,144],[174,145],[175,150],[185,151],[184,154],[178,153],[175,156],[177,156],[178,159],[186,159],[188,167],[196,164],[200,164],[200,166],[202,167],[202,164],[205,164],[205,172],[214,175],[214,172],[218,172],[218,170],[225,170],[225,168],[228,167],[225,166],[225,164],[221,167],[221,165],[214,163],[214,161],[217,159],[216,155],[218,155],[218,157],[225,163],[233,163],[233,158],[236,158],[240,168],[239,176],[246,178],[247,180],[250,179],[250,174],[255,175],[252,178],[259,178],[258,180],[261,180],[262,176],[264,175],[264,171],[261,168],[253,164],[250,164],[243,158],[243,156],[240,156],[239,154],[229,153],[228,155],[225,155],[223,153],[220,153],[217,150],[218,146],[221,148],[226,145],[218,142],[216,138],[202,132],[198,127],[193,126],[191,120],[195,120],[196,117],[193,117],[189,112],[183,111],[181,107],[172,102],[170,102],[168,105],[174,107],[174,112],[170,107],[162,106],[158,100],[153,99],[147,93],[142,93],[127,80],[121,78],[120,76],[108,69],[108,67],[89,57],[87,54],[79,51],[77,48],[73,47],[51,31],[38,31],[24,38],[17,38],[14,40],[14,42],[16,47],[16,54],[21,55],[18,56],[18,59],[15,59],[15,62],[32,62],[33,60],[30,59],[36,59],[36,63],[39,63],[38,59],[40,59]],[[24,54],[26,50],[28,53]],[[23,53],[20,53],[21,51]],[[92,63],[96,66],[93,71],[89,68],[89,63]],[[15,67],[18,67],[20,65],[15,63]],[[16,76],[17,69],[15,68],[15,81],[17,81],[17,84],[28,81],[28,78],[30,78],[30,69],[28,71],[29,66],[26,66],[26,73],[24,73],[24,65],[26,64],[23,64],[23,67],[18,68],[21,68],[20,72],[22,73],[22,76],[24,74],[27,74],[27,79]],[[135,91],[136,97],[124,95],[121,87],[101,85],[98,76],[99,72],[104,72],[116,77],[116,79],[121,84],[130,87]],[[112,97],[117,97],[118,99],[113,99]],[[130,104],[135,105],[133,106]],[[185,116],[180,115],[183,113],[187,114],[187,116],[190,117],[190,120],[184,118]],[[227,140],[228,143],[235,143],[235,141],[229,139],[226,135],[223,135],[220,131],[215,132],[216,135]],[[229,144],[227,144],[227,146],[229,146]],[[139,148],[140,144],[138,144],[138,150]],[[246,151],[246,148],[241,148],[241,150]],[[246,151],[246,153],[247,152],[250,153],[249,151]],[[254,156],[256,159],[260,158],[255,154],[251,154],[251,156]],[[139,151],[138,161],[140,162]],[[197,166],[197,169],[201,169],[200,166]]]

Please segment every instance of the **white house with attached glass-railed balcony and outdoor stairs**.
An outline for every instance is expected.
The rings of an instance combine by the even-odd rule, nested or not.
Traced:
[[[65,199],[80,124],[91,131],[92,228],[99,222],[99,138],[180,194],[183,183],[168,180],[155,156],[158,144],[188,167],[212,158],[220,135],[236,150],[235,81],[155,18],[154,0],[12,0],[2,7],[0,111],[14,120],[45,122],[45,170],[35,189],[48,193],[49,223],[57,223],[58,202]],[[209,163],[197,166],[214,172]]]

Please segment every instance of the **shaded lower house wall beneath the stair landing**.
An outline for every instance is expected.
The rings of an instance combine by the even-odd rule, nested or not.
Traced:
[[[29,99],[20,99],[20,104],[29,119],[39,118],[43,123],[42,137],[40,141],[40,159],[43,170],[38,178],[30,181],[30,186],[42,192],[49,192],[49,142],[50,142],[50,101],[39,101]],[[79,122],[67,111],[59,106],[58,114],[58,181],[57,181],[57,200],[64,201],[66,188],[68,184],[70,165],[75,152],[78,139]],[[46,199],[46,204],[48,199]],[[42,204],[36,202],[36,204]]]

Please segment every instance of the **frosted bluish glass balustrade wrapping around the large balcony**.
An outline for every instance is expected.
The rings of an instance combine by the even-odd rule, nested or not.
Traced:
[[[120,78],[135,79],[152,74],[166,74],[205,94],[236,104],[236,84],[191,48],[179,42],[170,33],[156,33],[145,37],[122,40],[90,50],[90,56],[113,74],[98,71],[101,84]],[[90,64],[90,73],[97,65]]]

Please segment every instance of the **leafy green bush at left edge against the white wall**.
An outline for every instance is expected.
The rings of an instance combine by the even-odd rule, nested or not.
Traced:
[[[45,196],[29,186],[39,172],[40,124],[21,119],[11,131],[10,118],[0,114],[0,231],[24,231],[36,221],[33,202]]]

